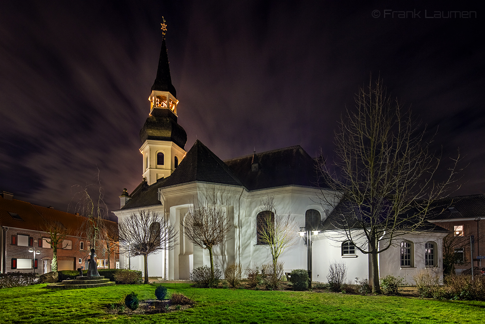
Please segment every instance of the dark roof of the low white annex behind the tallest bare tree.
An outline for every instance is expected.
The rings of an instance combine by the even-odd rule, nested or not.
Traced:
[[[350,203],[345,203],[345,202],[340,202],[337,207],[335,207],[330,215],[322,222],[321,227],[323,230],[342,230],[344,227],[343,226],[343,220],[345,219],[344,214],[350,214],[353,213],[352,211],[352,205]],[[408,210],[407,212],[401,214],[403,219],[409,218],[412,216],[412,213],[415,213],[416,211],[413,209]],[[351,220],[352,217],[349,219]],[[402,229],[406,230],[411,228],[414,225],[414,222],[410,221],[404,221],[402,224]],[[417,232],[421,231],[426,231],[426,232],[443,232],[443,233],[448,233],[449,231],[443,227],[440,227],[436,224],[433,224],[431,222],[423,222],[418,228],[416,228]]]

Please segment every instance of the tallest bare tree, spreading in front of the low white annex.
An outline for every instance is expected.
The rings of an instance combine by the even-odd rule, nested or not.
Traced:
[[[431,152],[431,141],[411,113],[387,96],[379,79],[360,88],[356,111],[348,110],[340,122],[336,173],[330,176],[321,164],[327,184],[341,198],[322,196],[334,208],[340,200],[330,222],[361,253],[371,255],[374,293],[380,292],[377,255],[399,236],[419,231],[430,204],[454,181],[458,158],[446,179],[434,180],[441,158]]]

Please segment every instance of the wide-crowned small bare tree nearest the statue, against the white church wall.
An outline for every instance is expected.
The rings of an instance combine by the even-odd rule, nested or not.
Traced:
[[[177,246],[178,231],[169,220],[153,211],[140,210],[118,222],[120,253],[143,256],[145,283],[148,283],[149,254],[172,250]]]

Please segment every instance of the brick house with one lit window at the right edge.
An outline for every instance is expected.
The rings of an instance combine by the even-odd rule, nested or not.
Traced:
[[[477,258],[485,255],[485,194],[445,198],[436,206],[438,212],[428,221],[450,231],[443,239],[443,253],[454,255],[455,272],[460,274],[472,263],[474,267],[485,267],[485,260]]]

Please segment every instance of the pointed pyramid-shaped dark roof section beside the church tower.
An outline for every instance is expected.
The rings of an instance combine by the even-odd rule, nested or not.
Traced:
[[[234,186],[242,185],[241,181],[227,165],[198,139],[182,159],[178,168],[165,179],[162,187],[193,181],[213,182]]]

